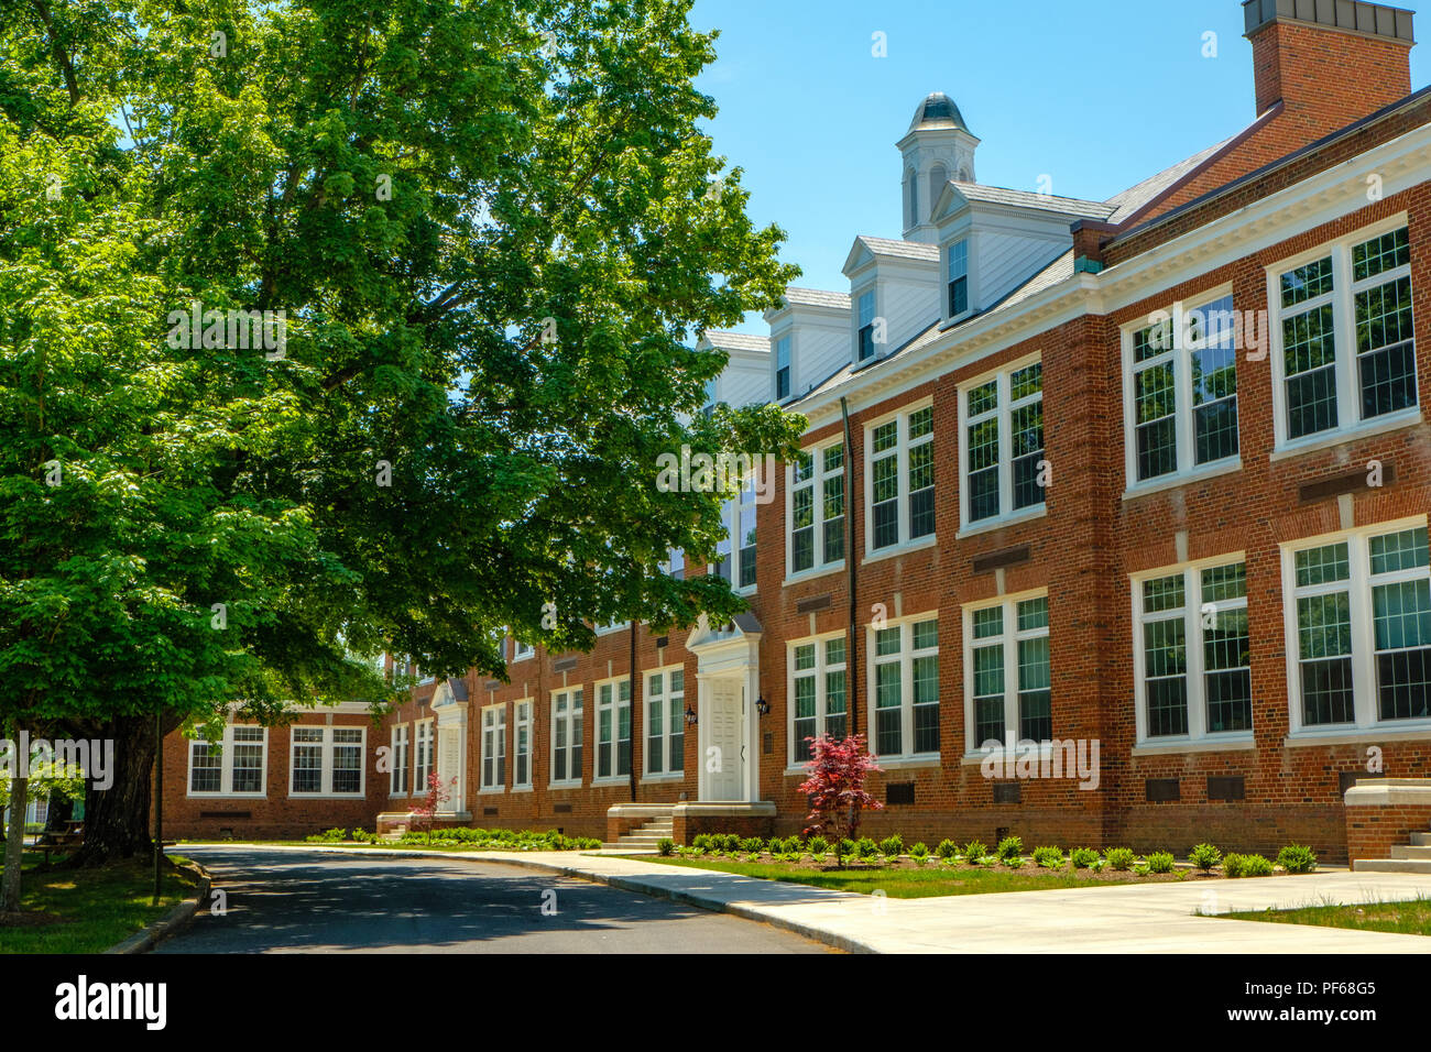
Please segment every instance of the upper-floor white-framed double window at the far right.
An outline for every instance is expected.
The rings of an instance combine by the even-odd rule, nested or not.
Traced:
[[[1268,292],[1279,448],[1417,414],[1404,218],[1269,268]]]

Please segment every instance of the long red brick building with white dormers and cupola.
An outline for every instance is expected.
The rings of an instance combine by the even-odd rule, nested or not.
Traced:
[[[1345,857],[1357,777],[1431,776],[1431,93],[1407,11],[1244,7],[1241,133],[1078,200],[977,183],[933,94],[903,238],[857,238],[849,291],[791,289],[768,339],[710,333],[713,396],[804,414],[809,457],[730,510],[708,570],[750,611],[637,628],[634,704],[617,627],[419,687],[341,800],[292,793],[290,731],[242,806],[176,739],[169,820],[396,826],[436,770],[462,824],[790,833],[803,739],[857,730],[874,833]]]

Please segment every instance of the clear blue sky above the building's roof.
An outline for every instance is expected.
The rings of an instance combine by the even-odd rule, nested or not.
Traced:
[[[1398,6],[1431,31],[1431,0]],[[716,150],[746,169],[753,218],[784,228],[781,256],[813,288],[849,289],[856,235],[900,236],[894,143],[930,92],[982,140],[979,182],[1036,190],[1047,175],[1095,200],[1256,116],[1238,0],[697,0],[691,20],[721,31],[697,82],[720,106]],[[887,57],[871,56],[876,31]],[[1412,89],[1431,76],[1425,49]]]

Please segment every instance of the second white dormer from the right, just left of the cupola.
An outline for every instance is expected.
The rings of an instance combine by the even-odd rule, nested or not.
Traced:
[[[850,279],[849,354],[856,366],[899,349],[940,318],[939,246],[856,238]]]

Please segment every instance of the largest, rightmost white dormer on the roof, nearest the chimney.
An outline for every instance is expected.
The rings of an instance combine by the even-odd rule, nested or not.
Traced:
[[[949,182],[934,202],[940,315],[987,311],[1073,248],[1072,223],[1106,220],[1112,205]]]

